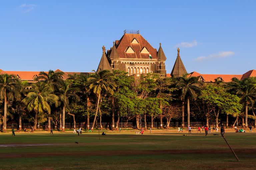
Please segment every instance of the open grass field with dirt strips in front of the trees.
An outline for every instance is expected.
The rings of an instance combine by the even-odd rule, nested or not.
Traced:
[[[100,132],[101,133],[101,132]],[[187,134],[187,133],[183,133]],[[256,133],[226,132],[237,162],[224,139],[211,133],[183,136],[176,130],[0,133],[0,169],[192,169],[249,170],[255,167]],[[75,143],[75,141],[78,142]]]

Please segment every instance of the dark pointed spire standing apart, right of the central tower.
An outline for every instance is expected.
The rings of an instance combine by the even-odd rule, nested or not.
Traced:
[[[180,58],[180,49],[177,48],[177,51],[178,51],[177,58],[171,72],[172,77],[181,77],[184,74],[187,74],[187,70]]]

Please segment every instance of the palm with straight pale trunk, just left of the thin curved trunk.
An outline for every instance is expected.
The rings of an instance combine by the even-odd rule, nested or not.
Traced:
[[[68,82],[64,82],[61,88],[59,88],[59,99],[62,103],[62,131],[65,131],[65,113],[69,110],[71,103],[78,102],[79,96],[76,94],[78,88],[71,87]],[[75,126],[75,125],[74,125]]]

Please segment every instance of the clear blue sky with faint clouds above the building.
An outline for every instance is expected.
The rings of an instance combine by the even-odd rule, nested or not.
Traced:
[[[170,73],[243,74],[255,66],[256,1],[2,1],[0,69],[90,72],[125,29],[156,49]]]

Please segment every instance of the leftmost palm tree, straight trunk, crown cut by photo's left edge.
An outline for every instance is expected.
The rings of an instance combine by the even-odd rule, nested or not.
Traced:
[[[0,75],[0,99],[4,100],[3,131],[6,132],[7,103],[20,96],[20,81],[15,75]]]

